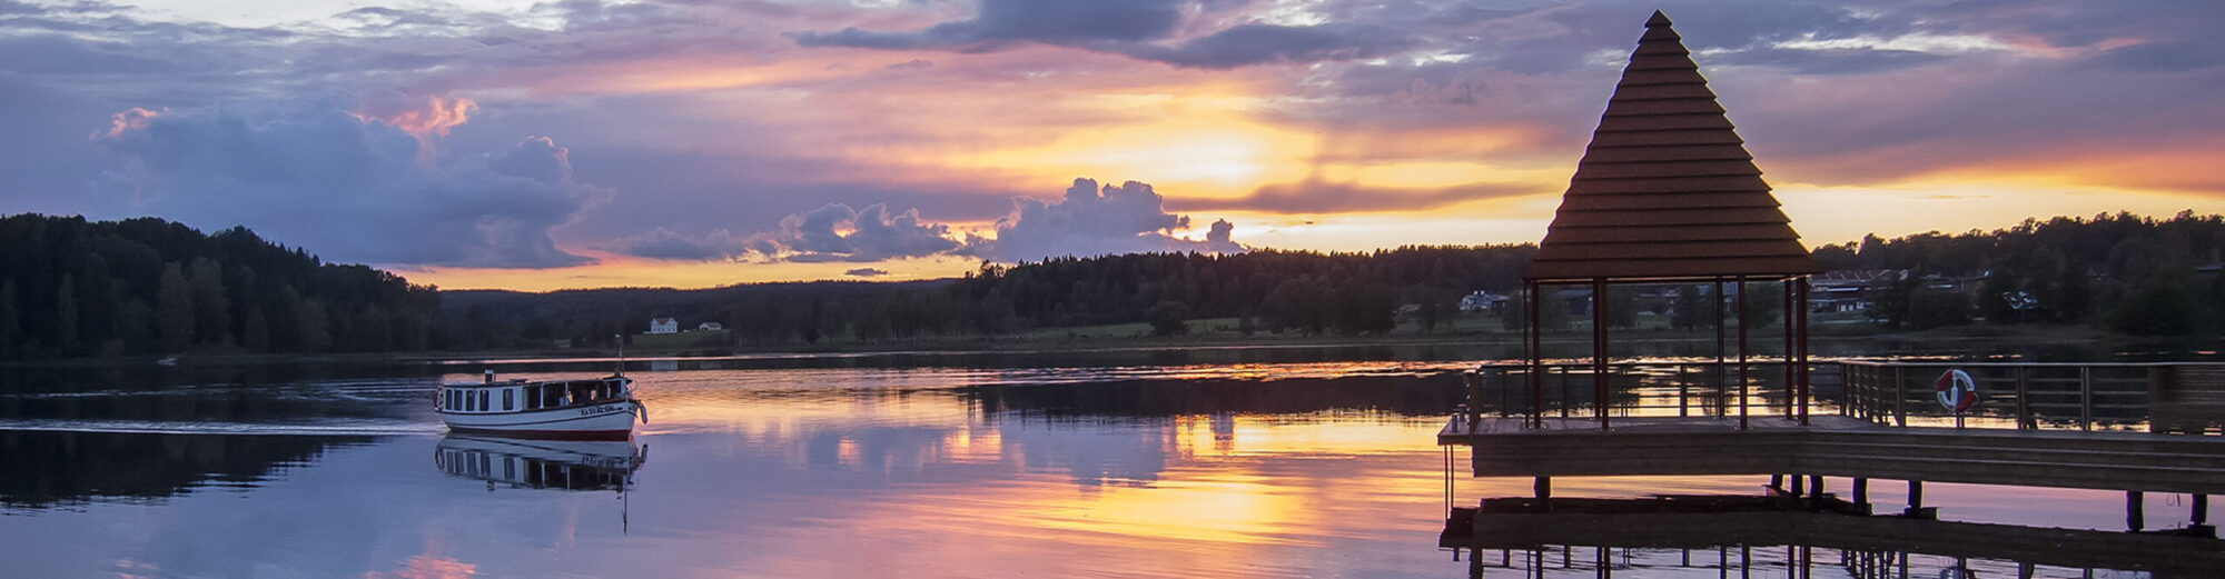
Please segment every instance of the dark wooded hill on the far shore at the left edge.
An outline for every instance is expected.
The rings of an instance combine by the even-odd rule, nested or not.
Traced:
[[[432,350],[434,287],[245,227],[0,218],[0,359]]]

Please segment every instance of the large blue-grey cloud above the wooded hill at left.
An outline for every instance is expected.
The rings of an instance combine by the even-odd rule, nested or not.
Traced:
[[[561,267],[550,229],[607,192],[572,180],[565,147],[525,138],[441,154],[334,102],[118,114],[93,140],[120,158],[98,194],[198,227],[247,225],[334,258],[389,265]]]

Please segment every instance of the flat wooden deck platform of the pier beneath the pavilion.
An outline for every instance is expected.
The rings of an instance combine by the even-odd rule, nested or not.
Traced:
[[[1853,479],[2225,494],[2225,436],[1887,428],[1849,416],[1453,419],[1475,477],[1813,474]]]

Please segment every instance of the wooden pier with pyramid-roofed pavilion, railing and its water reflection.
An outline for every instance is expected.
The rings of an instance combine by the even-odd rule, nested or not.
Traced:
[[[1800,555],[1838,546],[1842,559],[1847,550],[1900,552],[1900,577],[1907,552],[2020,559],[2025,577],[2031,561],[2160,568],[2158,577],[2225,568],[2207,523],[2207,494],[2225,492],[2225,436],[2212,434],[2225,430],[2225,367],[1971,363],[1965,372],[1947,363],[1811,361],[1809,276],[1822,267],[1769,194],[1682,36],[1660,11],[1644,27],[1522,278],[1511,312],[1522,316],[1522,363],[1471,372],[1466,405],[1437,432],[1446,470],[1453,450],[1468,448],[1475,477],[1533,477],[1535,488],[1531,497],[1464,510],[1451,506],[1457,494],[1446,472],[1446,537],[1533,552],[1544,543],[1598,546],[1602,577],[1613,570],[1613,546],[1731,543],[1800,546]],[[1629,283],[1698,292],[1693,298],[1713,310],[1713,363],[1615,361],[1609,310],[1626,305],[1609,296]],[[1591,318],[1591,347],[1582,352],[1589,361],[1566,347],[1549,359],[1542,303],[1564,296],[1546,287],[1589,292],[1571,301],[1571,314]],[[1751,305],[1764,301],[1782,314]],[[1753,330],[1767,325],[1782,330],[1782,347],[1753,341]],[[1956,374],[1934,387],[1942,370]],[[1934,399],[1954,410],[1938,412]],[[1687,501],[1662,510],[1660,501],[1571,501],[1551,492],[1553,477],[1624,474],[1771,477],[1771,488],[1793,501]],[[1824,492],[1827,477],[1849,479],[1853,499]],[[1869,514],[1873,479],[1905,481],[1907,508]],[[2127,497],[2132,532],[1929,521],[1936,510],[1922,503],[1927,481],[2116,490]],[[2143,492],[2194,494],[2192,523],[2174,537],[2145,534]],[[1482,568],[1471,563],[1473,575]],[[1804,575],[1796,568],[1791,577]]]

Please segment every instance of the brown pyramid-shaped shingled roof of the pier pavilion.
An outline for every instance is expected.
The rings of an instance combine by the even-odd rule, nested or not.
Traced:
[[[1537,243],[1531,281],[1816,274],[1700,65],[1660,11]]]

